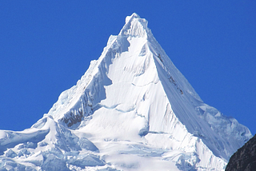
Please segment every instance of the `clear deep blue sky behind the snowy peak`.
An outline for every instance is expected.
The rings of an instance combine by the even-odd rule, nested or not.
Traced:
[[[38,121],[134,12],[203,101],[256,133],[253,0],[1,1],[0,129]]]

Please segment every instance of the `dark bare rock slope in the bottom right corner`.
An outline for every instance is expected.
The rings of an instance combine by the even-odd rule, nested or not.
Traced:
[[[256,170],[256,135],[230,157],[226,171]]]

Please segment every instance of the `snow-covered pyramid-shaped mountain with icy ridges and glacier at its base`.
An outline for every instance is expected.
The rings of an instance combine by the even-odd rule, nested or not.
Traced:
[[[250,137],[201,100],[132,14],[49,113],[0,130],[0,170],[224,170]]]

